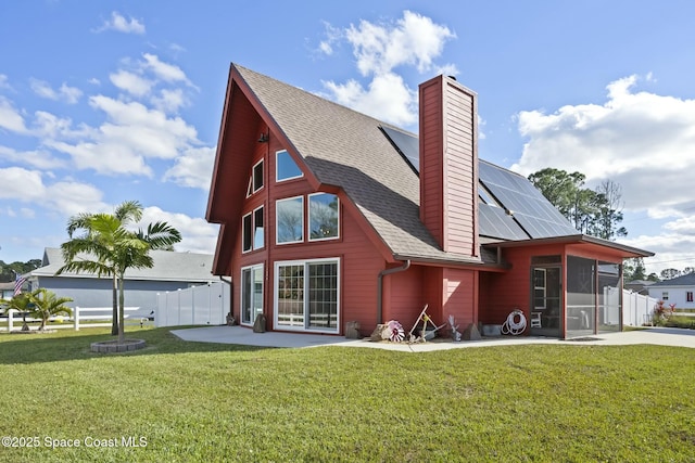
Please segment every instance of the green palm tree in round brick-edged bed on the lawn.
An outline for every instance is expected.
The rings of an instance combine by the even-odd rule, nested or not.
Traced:
[[[127,201],[111,214],[80,214],[67,223],[70,241],[61,245],[65,265],[56,274],[66,271],[90,272],[113,280],[112,334],[124,335],[124,281],[129,268],[151,268],[154,262],[151,249],[170,249],[181,241],[181,234],[166,222],[150,223],[147,232],[137,232],[126,227],[142,219],[142,206],[137,201]],[[80,235],[76,235],[81,231]]]

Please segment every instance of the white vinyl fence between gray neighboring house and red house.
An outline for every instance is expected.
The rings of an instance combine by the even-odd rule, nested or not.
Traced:
[[[159,293],[154,324],[156,326],[226,324],[230,307],[229,297],[229,284],[222,282]]]

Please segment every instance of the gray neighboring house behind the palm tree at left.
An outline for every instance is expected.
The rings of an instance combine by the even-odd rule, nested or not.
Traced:
[[[150,256],[154,260],[151,269],[128,269],[125,274],[125,305],[140,308],[131,316],[149,316],[157,307],[157,293],[218,281],[211,273],[212,254],[151,250]],[[64,263],[60,248],[47,247],[42,267],[24,274],[30,291],[46,287],[58,296],[70,297],[73,301],[66,305],[71,308],[113,306],[111,276],[72,272],[56,275],[55,272]]]

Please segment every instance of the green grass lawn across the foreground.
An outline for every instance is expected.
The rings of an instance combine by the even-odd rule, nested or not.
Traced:
[[[185,343],[97,355],[108,329],[0,334],[0,461],[694,461],[695,350],[428,353]],[[10,402],[11,400],[11,402]],[[46,447],[46,438],[79,448]],[[147,447],[85,447],[142,437]]]

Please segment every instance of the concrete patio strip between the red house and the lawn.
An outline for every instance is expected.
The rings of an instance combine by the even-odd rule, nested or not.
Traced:
[[[367,347],[377,349],[401,350],[405,352],[427,352],[443,349],[458,349],[467,347],[510,346],[520,344],[564,344],[618,346],[633,344],[653,344],[661,346],[678,346],[695,348],[695,331],[670,327],[654,327],[622,333],[607,333],[592,335],[581,340],[563,340],[551,337],[532,336],[500,336],[485,337],[481,340],[464,340],[454,343],[450,339],[434,339],[428,343],[374,343],[367,339],[346,339],[342,336],[304,334],[304,333],[254,333],[241,326],[203,326],[184,330],[172,330],[177,337],[193,343],[238,344],[260,347]]]

